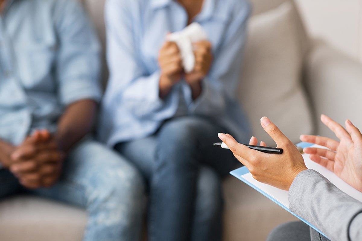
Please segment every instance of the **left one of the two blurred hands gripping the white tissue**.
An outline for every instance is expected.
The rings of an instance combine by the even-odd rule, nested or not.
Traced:
[[[181,79],[184,72],[180,50],[175,42],[166,41],[158,56],[161,75],[159,81],[160,97],[167,95],[171,87]]]

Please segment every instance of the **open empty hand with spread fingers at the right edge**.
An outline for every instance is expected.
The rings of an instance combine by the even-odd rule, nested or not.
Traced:
[[[336,141],[327,137],[301,135],[305,142],[328,147],[331,150],[306,147],[304,152],[310,159],[334,172],[338,177],[362,191],[362,134],[350,120],[345,121],[346,129],[336,121],[321,115],[321,121],[340,139]]]

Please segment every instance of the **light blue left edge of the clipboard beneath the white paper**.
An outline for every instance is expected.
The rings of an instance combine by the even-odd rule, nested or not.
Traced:
[[[255,186],[254,184],[252,184],[251,182],[245,180],[244,178],[241,177],[241,175],[247,174],[249,173],[249,170],[247,167],[240,167],[237,168],[233,171],[230,172],[231,175],[233,175],[234,177],[236,177],[237,179],[243,181],[245,184],[251,186],[253,189],[257,190],[258,192],[260,192],[261,194],[263,194],[265,197],[269,198],[271,201],[277,203],[279,206],[281,206],[282,208],[284,208],[286,211],[290,212],[293,216],[295,216],[296,218],[300,219],[301,221],[303,221],[304,223],[306,223],[309,227],[313,228],[315,231],[319,232],[320,234],[322,234],[324,237],[328,238],[327,236],[325,236],[325,234],[323,232],[321,232],[319,229],[317,229],[313,224],[311,224],[310,222],[308,222],[307,220],[301,218],[300,216],[296,215],[294,212],[290,211],[290,209],[288,207],[286,207],[285,205],[283,205],[281,202],[279,202],[277,199],[271,197],[269,194],[267,194],[265,191],[261,190],[260,188],[258,188],[257,186]]]

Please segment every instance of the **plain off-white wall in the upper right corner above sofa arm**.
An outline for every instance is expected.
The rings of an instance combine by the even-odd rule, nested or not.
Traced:
[[[362,63],[362,0],[296,0],[311,36]]]

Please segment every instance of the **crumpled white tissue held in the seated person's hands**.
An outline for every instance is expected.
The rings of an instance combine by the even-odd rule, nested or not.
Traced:
[[[190,73],[195,66],[192,44],[207,39],[205,30],[199,23],[193,22],[183,30],[168,35],[167,39],[177,44],[180,50],[182,66],[186,73]]]

